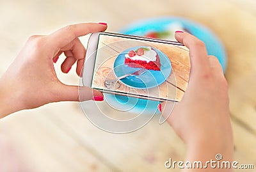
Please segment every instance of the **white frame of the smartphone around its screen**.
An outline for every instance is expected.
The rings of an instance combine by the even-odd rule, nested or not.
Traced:
[[[83,85],[84,86],[92,87],[93,72],[94,72],[94,68],[95,68],[95,58],[97,56],[97,48],[98,48],[100,34],[109,35],[109,36],[119,36],[119,37],[123,37],[123,38],[131,38],[131,39],[135,39],[135,40],[145,40],[145,41],[150,41],[150,42],[169,43],[172,45],[184,46],[184,44],[182,44],[180,42],[175,42],[175,41],[171,41],[171,40],[160,40],[160,39],[156,39],[156,38],[145,38],[142,36],[123,35],[120,33],[109,33],[109,32],[92,33],[92,35],[90,35],[90,38],[88,40],[88,45],[87,45],[87,49],[86,49],[86,58],[84,61],[84,66],[83,66]],[[94,89],[99,90],[104,93],[111,93],[111,94],[117,94],[117,95],[123,95],[123,96],[135,97],[135,98],[143,98],[143,99],[147,99],[147,100],[178,102],[177,100],[166,99],[166,98],[148,97],[148,96],[144,96],[144,95],[135,95],[135,94],[131,94],[131,93],[123,93],[123,92],[114,91],[114,90],[103,90],[103,89],[99,89],[99,88],[94,88]]]

